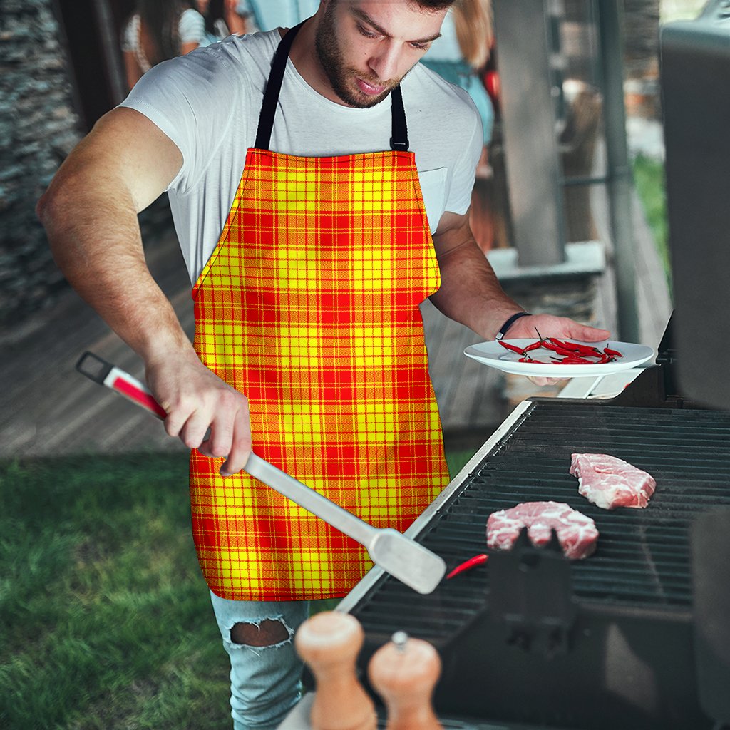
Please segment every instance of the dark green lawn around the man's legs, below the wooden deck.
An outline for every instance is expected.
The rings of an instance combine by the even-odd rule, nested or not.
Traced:
[[[187,472],[180,455],[0,463],[1,728],[230,726]]]

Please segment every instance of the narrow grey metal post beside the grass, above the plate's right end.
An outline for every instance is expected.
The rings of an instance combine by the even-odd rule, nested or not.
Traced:
[[[636,258],[631,234],[632,174],[626,147],[623,106],[623,37],[621,0],[599,0],[598,26],[603,70],[608,204],[615,250],[618,337],[639,342]]]

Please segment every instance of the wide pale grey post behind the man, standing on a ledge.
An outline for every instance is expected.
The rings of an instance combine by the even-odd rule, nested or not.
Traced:
[[[507,189],[520,266],[565,260],[546,2],[549,6],[550,0],[494,0],[493,6]]]

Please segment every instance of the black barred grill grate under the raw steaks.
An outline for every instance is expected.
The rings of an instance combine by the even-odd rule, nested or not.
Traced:
[[[645,510],[600,510],[577,493],[571,453],[608,453],[657,482]],[[566,502],[596,521],[598,550],[572,563],[581,604],[609,610],[691,611],[688,527],[712,507],[730,506],[730,414],[534,401],[458,485],[418,541],[449,569],[485,552],[488,515],[518,502]],[[438,642],[483,607],[488,564],[415,596],[383,577],[350,611],[372,634],[397,629]]]

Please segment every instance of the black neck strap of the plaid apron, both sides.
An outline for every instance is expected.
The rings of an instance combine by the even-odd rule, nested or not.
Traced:
[[[264,92],[264,101],[261,103],[261,112],[258,115],[258,129],[256,130],[256,150],[268,150],[272,139],[272,130],[274,128],[274,115],[276,107],[279,103],[279,93],[284,80],[284,72],[286,70],[286,61],[289,58],[291,44],[294,42],[296,34],[304,20],[298,26],[290,28],[285,36],[281,39],[274,60],[272,61],[272,70],[269,74],[269,81],[266,83],[266,91]],[[400,85],[391,91],[391,150],[395,152],[407,152],[408,150],[408,129],[406,126],[406,112],[403,107],[403,96],[401,94]]]

